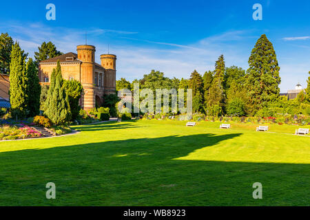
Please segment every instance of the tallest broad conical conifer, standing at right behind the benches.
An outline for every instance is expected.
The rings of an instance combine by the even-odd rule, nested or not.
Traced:
[[[280,67],[272,43],[265,34],[260,36],[249,57],[246,87],[248,89],[248,111],[254,115],[262,107],[278,99],[281,80]]]

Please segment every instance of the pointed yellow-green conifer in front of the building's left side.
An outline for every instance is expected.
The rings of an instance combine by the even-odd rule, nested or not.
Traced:
[[[57,61],[56,70],[51,76],[48,98],[45,100],[45,115],[53,124],[65,124],[71,118],[70,103],[68,94],[63,88],[63,76],[61,75],[61,65]]]

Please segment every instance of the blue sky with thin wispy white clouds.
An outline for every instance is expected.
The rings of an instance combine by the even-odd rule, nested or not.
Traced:
[[[310,1],[6,1],[0,8],[0,31],[8,32],[33,56],[43,41],[61,52],[76,45],[96,46],[100,54],[117,55],[117,78],[142,78],[152,69],[166,76],[189,78],[214,69],[220,54],[227,66],[247,69],[257,39],[266,34],[281,67],[280,89],[306,86],[310,70]],[[45,19],[54,3],[56,21]],[[262,21],[254,21],[254,3]]]

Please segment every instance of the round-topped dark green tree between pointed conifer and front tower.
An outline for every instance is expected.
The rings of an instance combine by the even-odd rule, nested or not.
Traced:
[[[81,98],[83,86],[77,80],[64,80],[63,88],[65,89],[65,91],[67,92],[69,96],[70,111],[72,114],[71,119],[76,120],[81,110],[81,107],[79,105],[79,100]]]

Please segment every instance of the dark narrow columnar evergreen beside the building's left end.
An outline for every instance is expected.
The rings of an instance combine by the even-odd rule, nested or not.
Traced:
[[[28,110],[30,117],[39,115],[40,110],[40,96],[41,96],[41,85],[39,84],[39,76],[37,72],[36,65],[29,58],[26,65],[27,78],[28,78]]]

